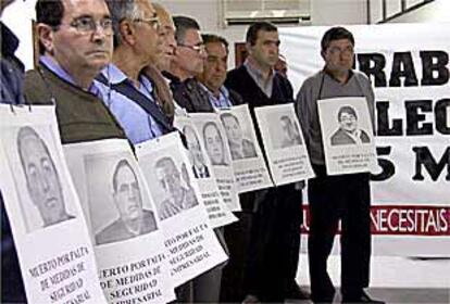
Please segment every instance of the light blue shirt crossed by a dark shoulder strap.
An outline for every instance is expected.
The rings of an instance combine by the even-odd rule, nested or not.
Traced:
[[[114,64],[104,67],[101,74],[112,85],[125,83],[127,86],[134,87],[133,81]],[[95,80],[95,84],[100,90],[104,104],[118,121],[133,144],[163,135],[160,125],[138,103],[98,80]],[[139,88],[136,89],[154,102],[151,81],[146,76],[140,75],[139,85]]]

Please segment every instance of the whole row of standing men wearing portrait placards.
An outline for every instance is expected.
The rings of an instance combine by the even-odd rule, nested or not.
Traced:
[[[342,300],[379,303],[363,291],[368,286],[371,255],[368,174],[326,175],[317,117],[317,100],[334,97],[362,96],[373,110],[367,78],[351,69],[351,33],[335,27],[325,34],[325,66],[304,81],[296,102],[289,80],[274,69],[280,41],[271,23],[248,28],[248,58],[227,72],[226,39],[202,35],[191,17],[172,18],[149,0],[38,0],[36,13],[39,64],[26,74],[22,94],[22,72],[10,73],[14,51],[5,49],[7,53],[2,42],[1,102],[18,104],[25,97],[29,104],[55,104],[62,143],[126,138],[137,144],[174,131],[177,111],[214,112],[247,103],[253,115],[257,106],[296,103],[316,174],[309,181],[311,299],[333,302],[335,289],[326,261],[342,220]],[[178,301],[307,299],[295,280],[302,186],[240,194],[240,220],[215,231],[229,252],[227,265],[179,287]],[[2,220],[1,300],[25,302],[23,288],[13,280],[21,281],[18,265],[11,262],[15,258],[11,237],[3,235],[7,224]],[[7,241],[9,246],[3,245]],[[12,257],[4,258],[8,254]]]

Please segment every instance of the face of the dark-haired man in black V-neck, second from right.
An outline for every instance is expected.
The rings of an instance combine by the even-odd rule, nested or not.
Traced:
[[[258,39],[254,46],[249,47],[249,53],[259,65],[267,68],[274,67],[279,53],[278,31],[258,31]]]

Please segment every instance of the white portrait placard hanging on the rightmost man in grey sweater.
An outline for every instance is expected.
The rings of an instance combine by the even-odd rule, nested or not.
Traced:
[[[378,169],[368,106],[363,97],[317,100],[328,175]]]

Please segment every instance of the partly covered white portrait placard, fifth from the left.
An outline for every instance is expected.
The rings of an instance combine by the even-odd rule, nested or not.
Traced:
[[[214,170],[215,180],[225,204],[233,212],[241,211],[237,183],[232,165],[232,154],[225,129],[216,113],[190,113],[189,117],[203,141]]]

